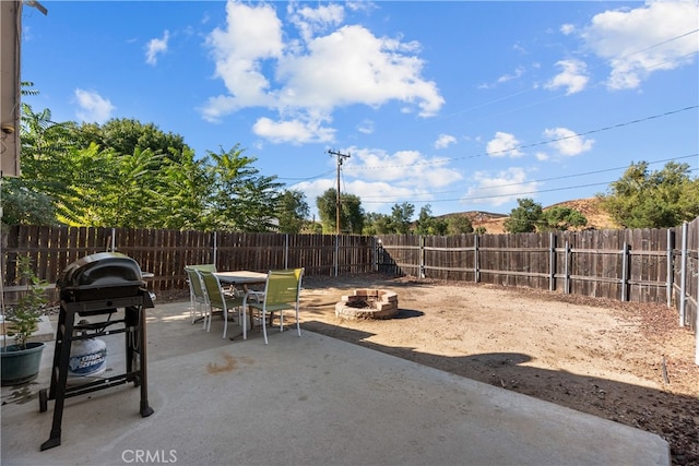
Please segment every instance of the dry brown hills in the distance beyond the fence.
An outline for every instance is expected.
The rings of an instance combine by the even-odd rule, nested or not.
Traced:
[[[544,211],[554,206],[570,207],[579,211],[588,219],[585,228],[594,229],[616,229],[618,225],[614,223],[612,217],[600,208],[600,201],[596,198],[578,199],[573,201],[559,202],[544,207]],[[459,212],[453,214],[441,215],[440,218],[448,218],[453,216],[466,216],[471,219],[474,228],[485,227],[488,234],[503,234],[502,227],[505,220],[509,217],[508,214],[495,214],[491,212],[469,211]]]

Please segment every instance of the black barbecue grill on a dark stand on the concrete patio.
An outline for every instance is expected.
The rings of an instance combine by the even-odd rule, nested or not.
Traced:
[[[64,399],[133,382],[141,387],[141,416],[153,414],[147,401],[145,308],[153,299],[143,283],[139,264],[128,255],[100,252],[67,266],[56,286],[60,291],[60,313],[49,391],[39,391],[39,410],[56,399],[50,438],[42,451],[61,443]],[[87,316],[76,323],[75,316]],[[67,386],[72,342],[125,333],[126,372]]]

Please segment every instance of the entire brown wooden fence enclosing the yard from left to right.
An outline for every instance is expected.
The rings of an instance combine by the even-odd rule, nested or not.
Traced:
[[[665,303],[677,309],[679,325],[697,328],[699,218],[671,229],[448,237],[5,226],[4,296],[19,289],[20,255],[55,284],[67,265],[103,251],[122,252],[152,272],[154,291],[187,288],[187,264],[260,272],[303,266],[307,275],[325,276],[379,271]]]

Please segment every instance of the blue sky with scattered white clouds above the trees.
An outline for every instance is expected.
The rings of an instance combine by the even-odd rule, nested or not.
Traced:
[[[132,118],[198,156],[366,212],[509,213],[606,192],[635,162],[699,174],[698,1],[42,1],[25,97]]]

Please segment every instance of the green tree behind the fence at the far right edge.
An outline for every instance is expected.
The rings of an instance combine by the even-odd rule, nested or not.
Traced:
[[[626,228],[674,227],[699,215],[699,180],[689,174],[687,164],[668,162],[660,171],[649,171],[647,162],[631,164],[599,199]]]

